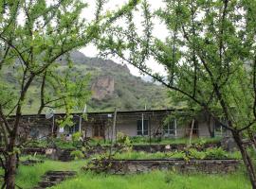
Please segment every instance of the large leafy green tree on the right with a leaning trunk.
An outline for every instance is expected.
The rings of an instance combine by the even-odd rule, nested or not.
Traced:
[[[256,2],[163,2],[165,7],[155,12],[142,2],[142,34],[134,13],[127,14],[126,26],[108,30],[99,44],[102,56],[131,63],[229,129],[256,188],[255,167],[243,143],[244,138],[254,143],[256,126]],[[165,40],[153,35],[155,17],[168,29]],[[147,64],[150,59],[163,65],[168,76],[154,73]]]

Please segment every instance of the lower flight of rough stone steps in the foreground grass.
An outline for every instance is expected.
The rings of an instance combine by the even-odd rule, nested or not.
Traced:
[[[48,171],[34,189],[44,189],[59,184],[77,174],[75,171]]]

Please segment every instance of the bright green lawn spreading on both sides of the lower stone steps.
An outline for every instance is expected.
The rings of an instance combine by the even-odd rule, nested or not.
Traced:
[[[46,160],[34,166],[19,167],[16,182],[24,189],[36,186],[48,170],[75,170],[78,176],[66,180],[54,189],[247,189],[249,181],[242,171],[233,175],[181,175],[155,171],[148,174],[113,176],[85,173],[81,167],[86,161],[61,163]],[[0,181],[1,182],[1,181]]]

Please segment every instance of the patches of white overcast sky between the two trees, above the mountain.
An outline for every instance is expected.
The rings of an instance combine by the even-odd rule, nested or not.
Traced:
[[[95,1],[94,0],[84,0],[84,2],[88,3],[89,8],[84,9],[84,11],[82,12],[82,17],[86,18],[86,20],[94,19],[94,17],[95,17],[95,15],[94,15]],[[128,2],[128,0],[108,0],[107,4],[104,7],[104,10],[118,9],[121,5],[123,5],[127,2]],[[148,2],[151,4],[152,9],[159,9],[161,6],[163,6],[163,3],[161,2],[161,0],[148,0]],[[135,15],[135,18],[136,18],[135,24],[138,26],[138,30],[142,29],[142,27],[140,26],[142,17],[140,16],[140,14],[141,13],[137,12],[137,14]],[[165,39],[168,34],[166,27],[164,25],[160,24],[158,20],[154,20],[154,24],[155,24],[155,29],[153,31],[153,35],[159,39]],[[87,47],[82,48],[80,51],[87,57],[97,57],[97,55],[99,53],[97,51],[97,48],[92,44],[88,45]],[[112,60],[119,63],[119,60],[116,60],[116,59],[112,59]],[[158,72],[161,74],[165,73],[164,67],[155,63],[155,60],[153,60],[153,59],[149,60],[147,62],[147,65],[149,65],[149,67],[155,72]],[[137,68],[135,68],[133,65],[130,65],[130,64],[127,64],[127,66],[129,67],[129,69],[133,75],[140,76]]]

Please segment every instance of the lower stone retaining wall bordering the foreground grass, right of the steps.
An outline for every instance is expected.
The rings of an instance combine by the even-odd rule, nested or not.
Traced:
[[[155,169],[176,170],[181,173],[203,172],[210,174],[234,172],[241,164],[239,160],[129,160],[111,161],[110,173],[135,174]]]

